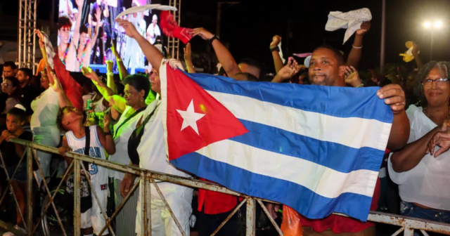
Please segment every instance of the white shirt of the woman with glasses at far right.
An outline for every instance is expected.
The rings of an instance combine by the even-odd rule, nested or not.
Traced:
[[[409,106],[406,111],[411,126],[408,143],[422,138],[437,126],[425,114],[422,107]],[[435,147],[435,151],[439,147]],[[392,156],[392,155],[391,155]],[[405,202],[416,202],[434,209],[450,210],[450,152],[439,157],[427,154],[409,171],[397,173],[392,169],[391,157],[387,162],[390,177],[399,185],[399,194]]]

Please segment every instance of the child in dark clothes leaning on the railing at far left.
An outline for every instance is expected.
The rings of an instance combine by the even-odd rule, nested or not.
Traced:
[[[20,108],[19,108],[20,107]],[[22,126],[25,124],[26,115],[25,107],[16,105],[11,108],[6,114],[6,130],[0,136],[0,151],[4,159],[4,167],[11,178],[11,185],[13,186],[14,195],[17,198],[19,209],[23,216],[25,213],[25,194],[27,181],[27,159],[23,159],[18,167],[15,176],[13,173],[19,164],[20,158],[23,156],[25,146],[10,142],[11,138],[20,138],[23,140],[32,141],[33,135],[29,131],[25,131]],[[19,209],[17,209],[17,221],[14,228],[23,230],[24,219],[20,217]],[[8,232],[9,233],[9,232]],[[6,234],[5,234],[6,235]]]

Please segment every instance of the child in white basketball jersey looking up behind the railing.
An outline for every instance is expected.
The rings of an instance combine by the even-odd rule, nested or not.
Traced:
[[[113,136],[111,136],[109,125],[110,119],[105,115],[103,119],[105,128],[104,133],[100,126],[89,126],[89,155],[106,159],[105,152],[109,155],[115,153],[115,143]],[[58,112],[56,123],[60,129],[68,131],[63,137],[63,146],[59,148],[61,155],[65,152],[72,151],[84,155],[86,147],[86,127],[84,126],[84,115],[82,111],[75,107],[63,107]],[[66,158],[68,165],[72,162],[72,158]],[[92,188],[96,191],[98,199],[102,206],[98,206],[94,194],[91,195],[92,206],[82,213],[82,233],[84,235],[96,235],[105,226],[105,218],[103,218],[101,211],[106,209],[106,202],[108,200],[108,170],[96,164],[89,164],[88,169],[91,178]],[[104,235],[108,235],[108,230],[105,230]]]

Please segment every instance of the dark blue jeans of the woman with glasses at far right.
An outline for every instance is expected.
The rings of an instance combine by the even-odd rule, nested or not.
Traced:
[[[404,204],[404,207],[400,210],[400,213],[404,216],[422,218],[428,221],[450,223],[450,211],[423,209],[411,202],[401,201],[401,203]]]

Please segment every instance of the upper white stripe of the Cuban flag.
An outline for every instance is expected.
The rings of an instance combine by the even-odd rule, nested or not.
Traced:
[[[376,119],[333,117],[236,94],[207,92],[238,119],[347,147],[373,147],[384,151],[390,134],[391,124]]]

